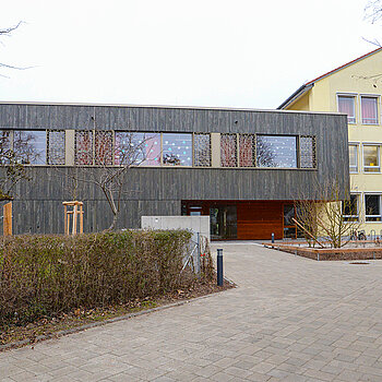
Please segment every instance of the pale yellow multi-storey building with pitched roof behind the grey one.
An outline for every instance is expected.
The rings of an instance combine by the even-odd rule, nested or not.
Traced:
[[[278,109],[348,116],[350,199],[367,235],[382,236],[382,48],[308,82]],[[344,211],[346,214],[346,211]]]

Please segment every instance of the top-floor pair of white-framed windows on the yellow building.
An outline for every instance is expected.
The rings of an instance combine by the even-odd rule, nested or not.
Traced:
[[[379,96],[338,95],[338,111],[347,115],[348,123],[379,124]],[[358,118],[357,118],[358,116]]]

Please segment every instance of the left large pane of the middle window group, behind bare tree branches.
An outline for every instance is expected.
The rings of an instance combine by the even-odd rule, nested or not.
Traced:
[[[116,132],[115,164],[159,166],[160,134]]]

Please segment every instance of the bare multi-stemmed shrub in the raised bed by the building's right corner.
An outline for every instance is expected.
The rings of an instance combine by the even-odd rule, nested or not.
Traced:
[[[361,225],[356,200],[347,192],[342,198],[338,181],[317,182],[315,189],[317,201],[300,196],[295,202],[298,227],[310,243],[323,247],[322,241],[327,240],[332,248],[346,246]]]

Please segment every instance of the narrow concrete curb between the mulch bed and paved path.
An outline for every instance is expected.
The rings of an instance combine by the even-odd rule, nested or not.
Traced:
[[[225,277],[225,280],[227,280],[229,284],[232,285],[232,289],[238,287],[237,284],[235,284],[234,282],[229,280],[226,277]],[[205,299],[205,298],[208,298],[208,297],[212,297],[212,296],[216,296],[216,295],[223,294],[224,291],[227,291],[227,290],[229,290],[229,289],[215,291],[215,293],[212,293],[212,294],[208,294],[208,295],[205,295],[205,296],[199,296],[199,297],[190,298],[190,299],[187,299],[187,300],[171,302],[171,303],[168,303],[168,305],[165,305],[165,306],[162,306],[162,307],[156,307],[156,308],[151,308],[151,309],[146,309],[146,310],[141,310],[141,311],[134,312],[134,313],[129,313],[129,314],[115,317],[112,319],[106,319],[104,321],[92,322],[92,323],[88,323],[88,324],[84,324],[84,325],[67,329],[67,330],[63,330],[63,331],[58,331],[58,332],[55,332],[55,333],[51,333],[51,334],[38,335],[33,342],[31,339],[22,339],[22,341],[16,341],[14,343],[0,345],[0,353],[5,351],[5,350],[10,350],[10,349],[13,349],[13,348],[22,347],[22,346],[25,346],[25,345],[33,345],[33,344],[39,343],[41,341],[51,339],[51,338],[58,338],[58,337],[62,337],[64,335],[83,332],[83,331],[86,331],[86,330],[92,329],[92,327],[98,327],[98,326],[103,326],[103,325],[110,324],[110,323],[114,323],[114,322],[129,320],[129,319],[132,319],[134,317],[150,314],[150,313],[153,313],[153,312],[157,312],[157,311],[160,311],[160,310],[170,309],[170,308],[175,308],[175,307],[180,307],[180,306],[193,302],[193,301],[202,300],[202,299]]]

